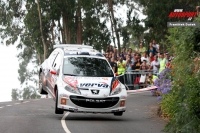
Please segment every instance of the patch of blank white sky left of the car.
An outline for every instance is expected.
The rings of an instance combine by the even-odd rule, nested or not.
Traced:
[[[18,80],[19,62],[16,46],[5,46],[0,44],[0,102],[11,101],[13,88],[20,88]]]

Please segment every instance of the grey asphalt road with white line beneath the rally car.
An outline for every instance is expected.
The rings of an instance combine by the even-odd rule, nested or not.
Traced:
[[[123,116],[55,115],[52,99],[3,102],[0,103],[0,133],[66,133],[67,130],[67,133],[162,132],[166,122],[156,115],[156,97],[149,92],[129,95],[126,105]]]

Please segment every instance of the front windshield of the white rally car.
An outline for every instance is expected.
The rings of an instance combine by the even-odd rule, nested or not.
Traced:
[[[112,68],[105,59],[68,57],[64,59],[63,74],[71,76],[113,77]]]

